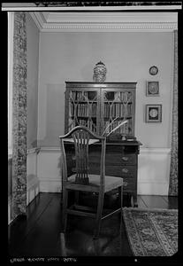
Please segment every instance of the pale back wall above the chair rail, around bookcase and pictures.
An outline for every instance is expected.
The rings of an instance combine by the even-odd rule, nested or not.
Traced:
[[[95,63],[107,66],[108,82],[136,81],[135,133],[144,147],[170,147],[173,33],[41,33],[38,141],[57,146],[64,133],[65,81],[92,81]],[[156,76],[149,66],[156,65]],[[160,83],[147,98],[146,81]],[[145,123],[146,104],[163,104],[163,122]]]

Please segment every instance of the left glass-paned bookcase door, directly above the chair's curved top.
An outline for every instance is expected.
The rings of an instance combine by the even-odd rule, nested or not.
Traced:
[[[68,132],[75,126],[85,126],[99,134],[99,91],[69,90],[68,94]]]

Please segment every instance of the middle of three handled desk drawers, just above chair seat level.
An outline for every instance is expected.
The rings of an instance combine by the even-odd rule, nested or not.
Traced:
[[[106,176],[121,176],[126,178],[134,178],[136,176],[135,166],[106,166],[105,167]]]

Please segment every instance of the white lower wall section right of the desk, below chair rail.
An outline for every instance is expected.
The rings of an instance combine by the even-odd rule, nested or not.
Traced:
[[[137,193],[168,195],[170,148],[141,148],[139,155]]]

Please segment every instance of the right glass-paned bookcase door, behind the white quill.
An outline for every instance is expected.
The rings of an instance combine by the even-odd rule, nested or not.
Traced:
[[[102,134],[110,133],[122,121],[127,121],[113,134],[134,136],[134,90],[102,89],[101,126]],[[112,133],[111,133],[112,134]]]

